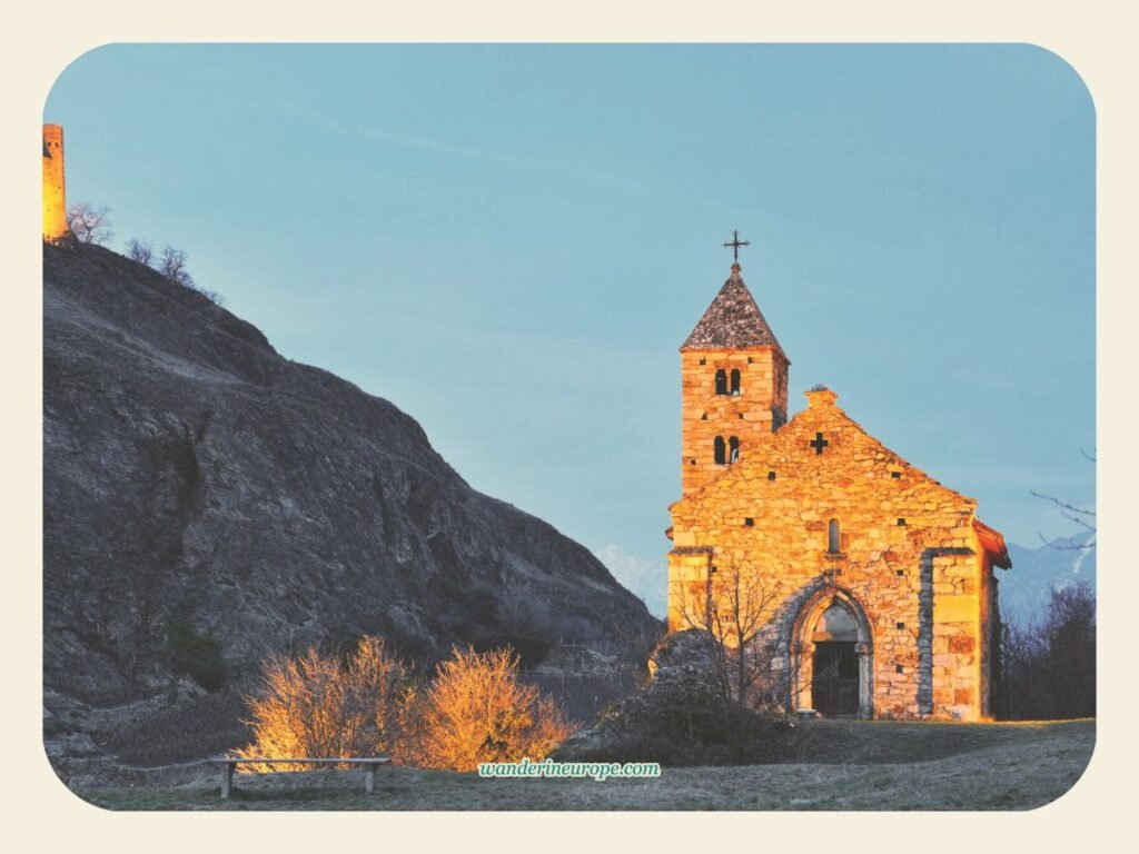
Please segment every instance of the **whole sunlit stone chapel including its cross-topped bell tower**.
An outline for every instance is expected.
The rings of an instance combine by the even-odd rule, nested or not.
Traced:
[[[790,361],[738,262],[680,358],[670,631],[715,622],[728,646],[743,637],[762,664],[748,691],[784,709],[990,716],[993,567],[1011,561],[977,502],[867,434],[823,386],[788,420]]]

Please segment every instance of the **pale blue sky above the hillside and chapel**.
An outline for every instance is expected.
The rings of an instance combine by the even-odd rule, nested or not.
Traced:
[[[1095,502],[1095,108],[1031,46],[109,46],[68,199],[664,601],[677,348],[728,274],[1025,545]]]

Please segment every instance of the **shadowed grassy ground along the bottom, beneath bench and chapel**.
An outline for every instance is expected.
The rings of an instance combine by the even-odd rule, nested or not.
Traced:
[[[664,769],[658,779],[489,780],[388,769],[216,773],[181,786],[77,789],[108,810],[1031,810],[1067,791],[1095,747],[1095,721],[891,723],[817,721],[795,734],[802,762]],[[646,761],[653,757],[646,756]]]

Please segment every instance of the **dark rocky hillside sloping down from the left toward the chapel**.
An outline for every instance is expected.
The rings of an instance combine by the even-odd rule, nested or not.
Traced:
[[[431,663],[509,641],[536,663],[557,638],[634,657],[658,633],[585,548],[470,488],[412,418],[203,295],[44,246],[43,312],[57,766],[230,746],[257,663],[313,642],[380,633]]]

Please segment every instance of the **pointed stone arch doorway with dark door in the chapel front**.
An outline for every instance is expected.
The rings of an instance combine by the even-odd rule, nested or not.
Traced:
[[[827,586],[811,596],[793,638],[795,711],[874,717],[874,635],[850,591]]]

